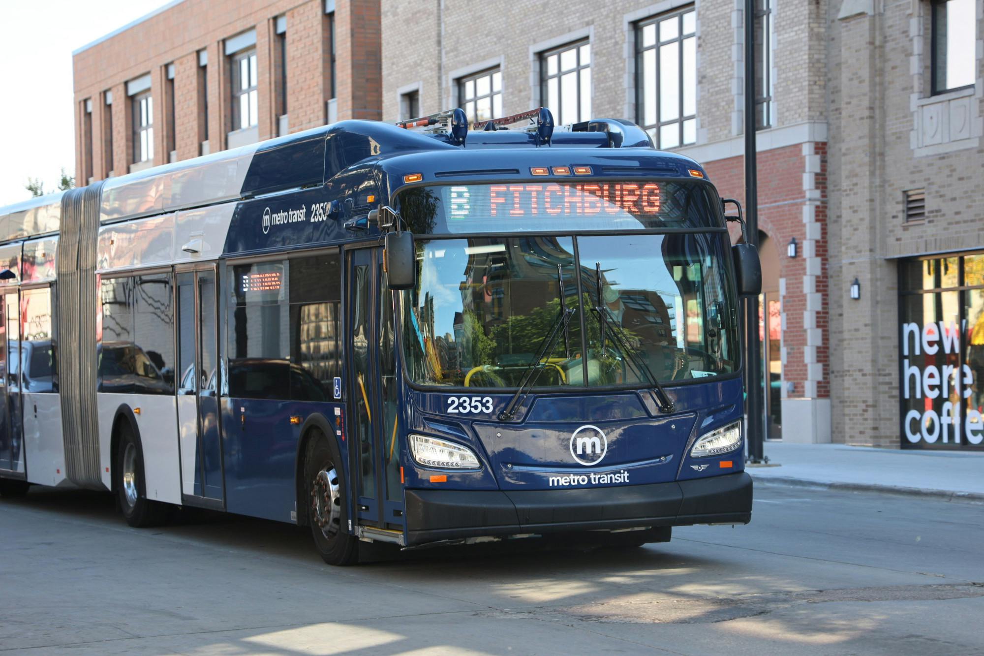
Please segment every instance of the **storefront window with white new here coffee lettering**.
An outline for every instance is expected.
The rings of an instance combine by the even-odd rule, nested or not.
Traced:
[[[901,282],[901,444],[984,450],[984,255],[909,260]]]

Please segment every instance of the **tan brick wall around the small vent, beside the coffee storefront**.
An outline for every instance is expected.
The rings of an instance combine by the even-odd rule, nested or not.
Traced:
[[[975,4],[980,19],[984,3]],[[832,419],[833,434],[849,443],[898,448],[901,440],[895,258],[984,248],[979,140],[939,155],[922,155],[912,143],[913,109],[929,70],[928,51],[913,59],[928,23],[921,36],[913,28],[928,5],[886,0],[884,11],[842,20],[831,6],[828,16]],[[978,20],[978,39],[982,30]],[[972,101],[981,116],[984,66],[976,61]],[[917,187],[926,189],[927,219],[906,226],[902,192]],[[860,300],[848,297],[854,278]]]

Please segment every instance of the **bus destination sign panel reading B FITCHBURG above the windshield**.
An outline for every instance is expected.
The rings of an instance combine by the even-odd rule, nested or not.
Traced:
[[[724,228],[717,194],[697,180],[447,184],[398,198],[416,234]]]

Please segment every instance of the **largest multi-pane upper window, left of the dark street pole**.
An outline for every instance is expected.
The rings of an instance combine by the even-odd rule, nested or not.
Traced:
[[[697,142],[697,12],[687,7],[640,23],[637,119],[657,148]]]

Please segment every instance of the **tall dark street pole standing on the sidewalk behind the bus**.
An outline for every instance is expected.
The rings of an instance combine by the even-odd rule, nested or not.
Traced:
[[[759,248],[759,181],[756,175],[755,0],[745,0],[745,221],[749,243]],[[745,298],[748,386],[748,458],[764,456],[765,396],[762,390],[762,349],[759,342],[759,296]]]

